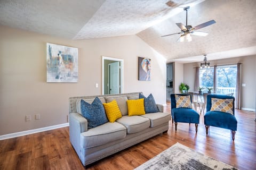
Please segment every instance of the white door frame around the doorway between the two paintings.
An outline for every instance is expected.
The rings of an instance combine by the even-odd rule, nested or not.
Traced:
[[[112,60],[112,61],[119,61],[120,65],[121,65],[121,69],[120,69],[120,91],[121,94],[124,93],[124,60],[123,59],[119,59],[119,58],[113,58],[113,57],[106,57],[106,56],[102,56],[102,95],[104,95],[104,61],[105,60]]]

